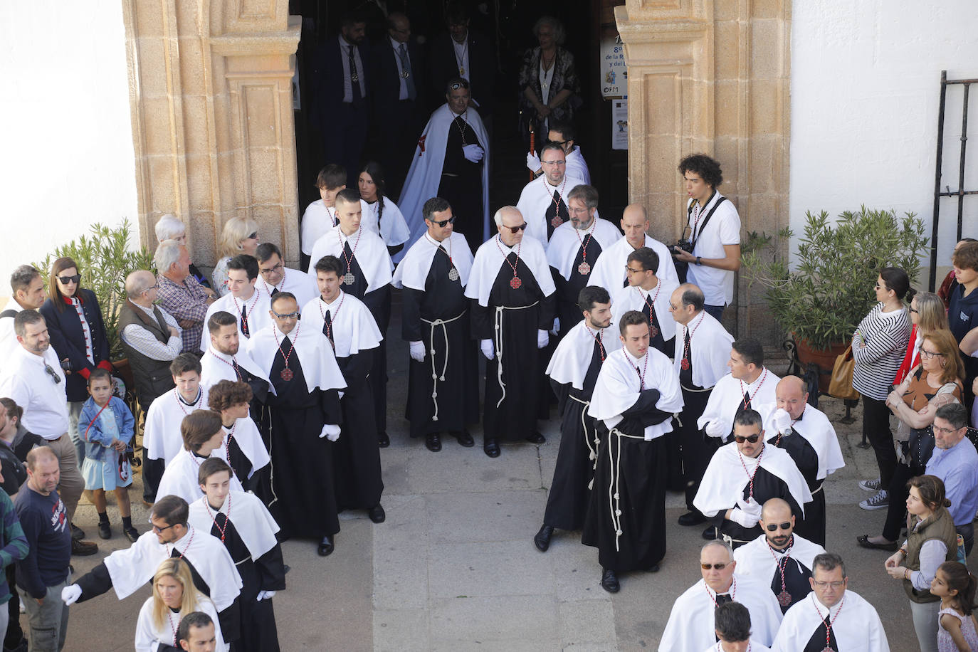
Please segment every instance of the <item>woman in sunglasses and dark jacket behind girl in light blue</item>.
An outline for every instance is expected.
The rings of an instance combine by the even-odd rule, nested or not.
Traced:
[[[88,400],[88,374],[96,368],[111,373],[109,338],[95,292],[81,286],[81,271],[73,259],[59,258],[51,265],[50,296],[40,312],[48,325],[51,347],[65,369],[68,435],[78,455],[85,460],[85,442],[78,433],[78,415]]]

